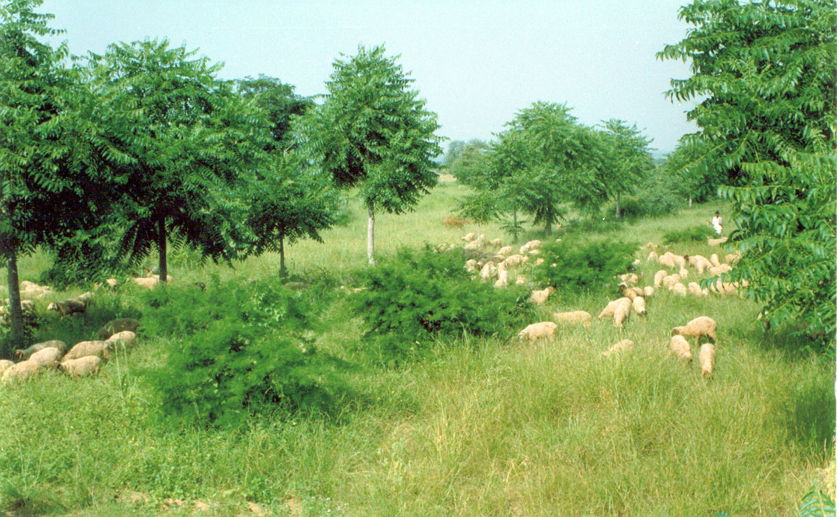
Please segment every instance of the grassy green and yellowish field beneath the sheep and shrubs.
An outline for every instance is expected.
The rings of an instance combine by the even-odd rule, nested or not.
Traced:
[[[456,183],[415,212],[377,218],[377,253],[461,243],[475,228],[448,228]],[[590,223],[576,238],[660,243],[706,223],[721,204],[635,223]],[[348,282],[366,260],[366,219],[288,251],[290,273]],[[501,235],[496,224],[483,233]],[[559,233],[560,236],[560,233]],[[531,231],[521,240],[538,238]],[[719,252],[705,243],[675,253]],[[637,252],[637,257],[644,253]],[[643,257],[644,258],[644,257]],[[21,261],[21,279],[48,264]],[[234,268],[172,251],[177,282],[274,275],[279,258]],[[152,264],[152,261],[149,261]],[[640,284],[659,264],[643,260]],[[0,271],[5,274],[5,271]],[[690,278],[691,280],[691,278]],[[81,289],[70,294],[81,292]],[[51,299],[39,301],[43,311]],[[616,295],[611,298],[615,298]],[[554,310],[598,314],[607,299],[555,297]],[[42,306],[43,305],[43,306]],[[0,386],[0,509],[54,515],[572,515],[731,517],[794,515],[814,483],[834,497],[834,361],[765,334],[757,305],[737,297],[680,298],[663,289],[648,316],[591,328],[562,327],[537,346],[511,339],[445,340],[398,369],[358,352],[361,321],[336,296],[317,338],[351,368],[351,395],[333,412],[254,417],[236,430],[162,420],[141,372],[162,364],[172,340],[144,340],[77,381],[47,373]],[[90,339],[115,315],[145,308],[130,289],[103,294],[75,320],[45,317],[37,337]],[[715,375],[701,378],[668,353],[669,332],[698,315],[718,322]],[[141,336],[142,337],[142,336]],[[629,338],[628,356],[599,353]],[[2,511],[2,510],[0,510]]]

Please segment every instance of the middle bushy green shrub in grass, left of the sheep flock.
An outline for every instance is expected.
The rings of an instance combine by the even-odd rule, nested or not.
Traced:
[[[380,336],[385,361],[419,353],[439,336],[508,335],[531,315],[529,292],[496,289],[472,279],[461,250],[400,250],[363,274],[366,288],[351,298],[352,310]]]

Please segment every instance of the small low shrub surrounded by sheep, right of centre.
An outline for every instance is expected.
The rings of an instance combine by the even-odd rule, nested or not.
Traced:
[[[564,238],[560,243],[545,244],[541,248],[539,256],[544,264],[534,269],[534,279],[552,285],[557,291],[603,289],[613,286],[618,282],[614,277],[631,268],[635,249],[636,246],[629,243],[578,243],[575,239]]]

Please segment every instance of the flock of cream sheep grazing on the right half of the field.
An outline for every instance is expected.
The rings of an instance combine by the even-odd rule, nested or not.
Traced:
[[[502,247],[501,239],[496,238],[491,241],[485,241],[484,235],[475,235],[468,233],[462,238],[465,241],[465,249],[470,250],[475,257],[469,258],[465,262],[465,269],[470,273],[476,274],[483,281],[490,281],[496,279],[494,285],[498,288],[506,287],[511,281],[511,275],[515,274],[514,283],[516,284],[530,284],[526,274],[522,274],[517,268],[528,261],[532,261],[534,266],[540,266],[544,263],[543,258],[537,257],[540,254],[538,247],[541,241],[533,240],[524,244],[521,248],[515,249],[511,246]],[[560,238],[557,239],[561,241]],[[726,239],[710,239],[710,245],[718,245],[726,241]],[[440,244],[437,248],[439,252],[444,252],[455,248],[455,244]],[[496,253],[486,253],[486,248],[498,248]],[[665,288],[669,289],[675,294],[681,296],[693,295],[696,297],[704,297],[710,294],[726,295],[737,294],[739,284],[721,282],[717,279],[715,283],[711,284],[709,289],[701,289],[701,285],[697,282],[689,282],[688,286],[683,284],[683,279],[690,275],[690,269],[695,270],[696,274],[712,274],[718,275],[727,273],[732,270],[732,266],[737,263],[739,255],[735,253],[728,253],[725,261],[721,262],[716,253],[712,253],[710,258],[701,255],[676,255],[675,253],[666,252],[662,255],[657,253],[659,248],[654,243],[648,243],[650,253],[648,261],[656,261],[661,266],[667,269],[675,269],[677,273],[670,274],[667,269],[660,269],[654,276],[654,285],[646,285],[644,287],[634,286],[639,282],[637,274],[622,274],[619,275],[621,283],[619,284],[619,291],[622,297],[608,302],[608,305],[599,313],[599,320],[612,319],[614,325],[622,328],[624,321],[631,314],[644,316],[646,314],[645,300],[655,294],[655,289]],[[638,258],[634,261],[634,265],[641,264],[642,261]],[[551,264],[556,267],[557,264]],[[747,284],[744,283],[743,286]],[[531,293],[531,302],[537,305],[544,304],[549,295],[555,291],[552,287],[547,289],[535,289]],[[540,321],[526,326],[520,331],[518,336],[521,339],[528,339],[531,343],[536,342],[542,337],[550,337],[555,335],[558,325],[584,325],[589,327],[593,320],[593,315],[583,310],[573,310],[569,312],[552,313],[554,321]],[[698,360],[701,366],[701,374],[706,379],[712,375],[712,369],[715,365],[716,349],[714,343],[717,340],[717,324],[708,316],[699,316],[694,320],[689,321],[686,325],[676,326],[671,330],[670,352],[683,361],[684,363],[691,362],[691,346],[686,337],[694,337],[696,339],[696,346],[699,348]],[[704,343],[701,345],[701,337],[711,339],[711,343]],[[633,350],[634,342],[632,340],[621,340],[614,346],[611,346],[607,351],[602,352],[602,356],[615,356],[624,354]]]

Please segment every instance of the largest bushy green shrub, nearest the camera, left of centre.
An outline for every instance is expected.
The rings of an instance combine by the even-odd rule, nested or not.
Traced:
[[[214,279],[205,291],[166,286],[147,297],[146,332],[176,338],[166,364],[146,374],[164,414],[235,425],[250,413],[324,404],[341,386],[311,346],[307,307],[277,279]]]

